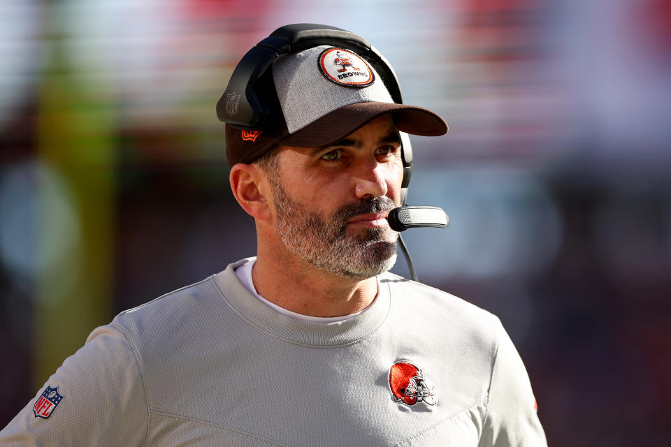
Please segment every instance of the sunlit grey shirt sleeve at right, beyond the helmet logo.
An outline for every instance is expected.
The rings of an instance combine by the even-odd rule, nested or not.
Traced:
[[[479,447],[547,446],[524,363],[498,318],[498,349]]]

